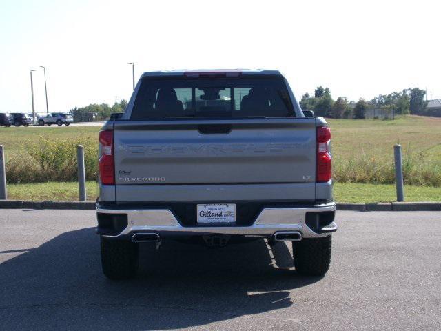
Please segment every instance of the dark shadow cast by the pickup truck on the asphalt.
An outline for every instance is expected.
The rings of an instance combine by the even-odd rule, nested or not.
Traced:
[[[296,274],[285,243],[270,249],[263,240],[145,245],[131,281],[103,277],[93,228],[0,255],[17,253],[0,264],[0,330],[188,328],[287,308],[289,290],[320,280]]]

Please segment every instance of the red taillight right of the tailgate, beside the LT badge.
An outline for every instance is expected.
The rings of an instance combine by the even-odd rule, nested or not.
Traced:
[[[317,174],[316,182],[323,183],[331,180],[332,177],[332,157],[329,153],[329,143],[331,142],[331,129],[319,126],[317,128]]]

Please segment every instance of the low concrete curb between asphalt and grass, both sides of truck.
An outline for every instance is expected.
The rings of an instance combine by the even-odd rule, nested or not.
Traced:
[[[0,200],[0,209],[76,209],[94,210],[95,201]],[[337,210],[355,212],[441,211],[441,202],[337,203]]]

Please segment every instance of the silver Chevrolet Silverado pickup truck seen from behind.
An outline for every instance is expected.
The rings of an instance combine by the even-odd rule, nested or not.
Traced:
[[[105,276],[133,277],[139,245],[169,239],[291,241],[299,274],[325,274],[331,132],[305,114],[278,71],[145,72],[99,134]]]

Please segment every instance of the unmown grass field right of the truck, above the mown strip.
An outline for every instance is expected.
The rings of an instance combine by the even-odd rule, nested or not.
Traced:
[[[336,181],[393,183],[393,145],[400,143],[405,183],[441,186],[440,118],[407,116],[394,121],[327,121],[332,131]]]

